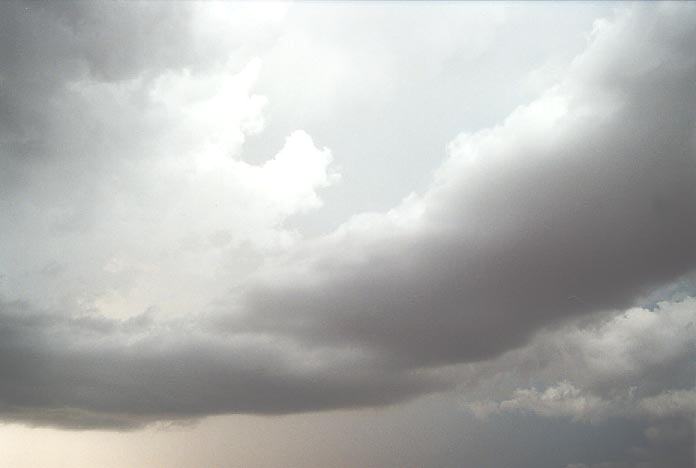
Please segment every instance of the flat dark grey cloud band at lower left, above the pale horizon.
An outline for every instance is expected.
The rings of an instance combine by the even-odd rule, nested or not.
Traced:
[[[147,315],[66,318],[3,303],[0,413],[36,424],[128,428],[219,413],[384,405],[445,388],[432,376],[356,367],[349,352],[304,353],[196,328]]]

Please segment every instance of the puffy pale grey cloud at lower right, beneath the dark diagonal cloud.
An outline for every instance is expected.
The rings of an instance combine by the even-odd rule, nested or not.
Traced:
[[[687,298],[546,330],[526,347],[463,370],[465,407],[481,418],[522,411],[593,423],[689,419],[696,409],[694,323],[696,300]]]

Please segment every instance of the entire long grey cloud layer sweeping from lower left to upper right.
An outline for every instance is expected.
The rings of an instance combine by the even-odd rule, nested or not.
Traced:
[[[299,243],[202,323],[3,302],[0,411],[128,427],[389,404],[454,388],[438,366],[634,305],[696,261],[694,43],[692,5],[629,8],[598,24],[557,86],[501,125],[460,135],[425,193]],[[175,60],[165,49],[157,57]],[[100,79],[130,69],[93,59]],[[4,135],[6,148],[31,141]]]

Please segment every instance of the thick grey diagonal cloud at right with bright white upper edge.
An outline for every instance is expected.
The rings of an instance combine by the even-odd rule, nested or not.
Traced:
[[[269,265],[229,329],[453,364],[689,272],[693,14],[636,7],[597,24],[563,81],[458,136],[425,193]]]

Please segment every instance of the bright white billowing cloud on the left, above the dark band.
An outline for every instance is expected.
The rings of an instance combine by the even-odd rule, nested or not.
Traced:
[[[239,159],[264,126],[266,99],[253,91],[261,67],[254,58],[241,69],[227,60],[66,81],[42,114],[45,153],[24,183],[5,187],[0,292],[112,316],[189,313],[225,294],[260,252],[296,242],[285,221],[319,208],[318,191],[338,174],[302,130],[263,163]]]

